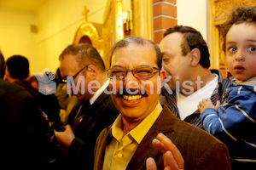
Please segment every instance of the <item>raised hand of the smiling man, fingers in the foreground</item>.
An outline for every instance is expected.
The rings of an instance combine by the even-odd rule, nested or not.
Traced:
[[[171,139],[168,139],[163,133],[159,133],[156,139],[153,139],[152,144],[163,154],[165,170],[180,170],[184,168],[183,156]],[[157,170],[152,157],[147,159],[146,169]]]

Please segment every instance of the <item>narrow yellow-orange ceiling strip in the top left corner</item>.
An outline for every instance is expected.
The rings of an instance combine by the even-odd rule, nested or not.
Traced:
[[[48,0],[0,0],[0,7],[36,12]]]

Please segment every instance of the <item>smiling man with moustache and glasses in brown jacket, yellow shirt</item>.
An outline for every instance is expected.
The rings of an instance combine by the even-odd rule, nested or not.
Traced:
[[[223,143],[160,105],[158,84],[166,77],[161,63],[160,48],[143,37],[126,37],[113,46],[109,88],[120,114],[96,141],[94,170],[146,169],[146,160],[148,169],[164,169],[164,134],[183,156],[172,153],[176,161],[170,164],[172,169],[230,169]]]

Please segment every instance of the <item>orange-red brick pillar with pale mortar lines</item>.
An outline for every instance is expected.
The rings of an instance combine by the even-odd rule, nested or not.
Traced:
[[[166,29],[177,26],[176,0],[153,0],[154,42],[159,43]]]

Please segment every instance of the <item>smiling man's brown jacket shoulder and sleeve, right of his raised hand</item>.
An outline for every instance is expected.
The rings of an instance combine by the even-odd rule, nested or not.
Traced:
[[[164,134],[172,140],[172,143],[181,152],[185,160],[185,169],[186,167],[198,169],[198,162],[201,162],[202,166],[206,167],[205,169],[219,169],[218,166],[218,168],[208,168],[216,167],[218,163],[229,167],[229,161],[227,161],[229,160],[229,152],[226,145],[210,133],[178,119],[165,106],[160,115],[159,124],[162,129],[166,130]]]

